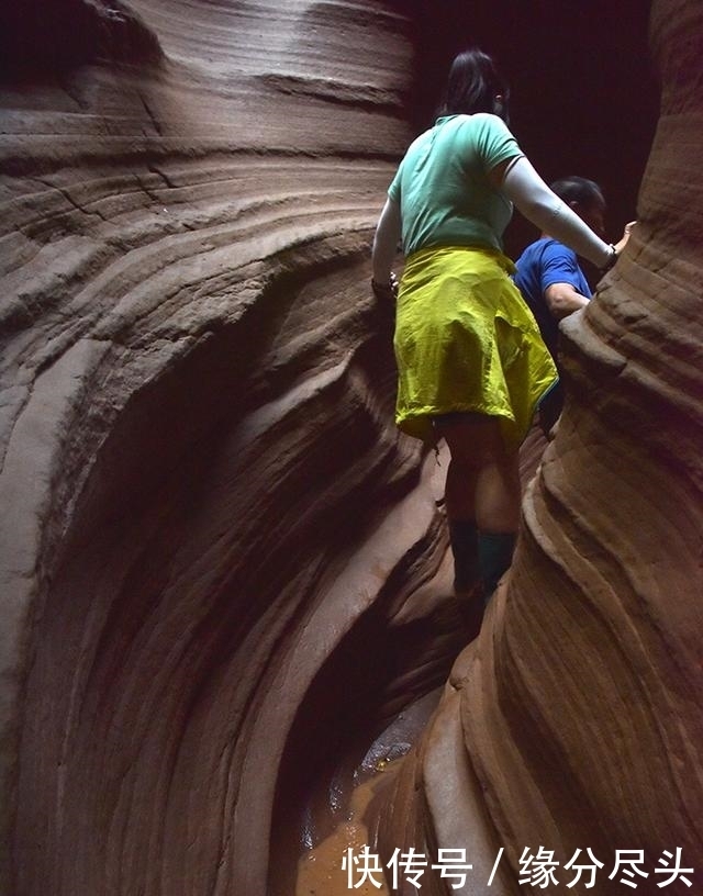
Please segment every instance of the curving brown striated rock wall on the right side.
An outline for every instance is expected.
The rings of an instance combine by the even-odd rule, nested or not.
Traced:
[[[701,5],[656,2],[651,46],[662,107],[639,224],[566,324],[570,396],[507,585],[379,797],[381,852],[467,848],[467,894],[703,884]],[[563,867],[592,864],[587,848],[592,891]],[[641,876],[613,874],[618,850],[641,850]],[[555,861],[554,881],[528,856]]]

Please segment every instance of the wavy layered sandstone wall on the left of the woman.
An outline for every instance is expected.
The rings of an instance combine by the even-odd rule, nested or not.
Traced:
[[[368,289],[405,23],[303,0],[9,21],[3,892],[264,894],[298,706],[437,540]]]

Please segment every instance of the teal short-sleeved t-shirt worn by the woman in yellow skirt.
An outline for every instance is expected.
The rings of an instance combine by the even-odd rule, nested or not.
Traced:
[[[431,246],[502,249],[512,203],[487,175],[523,155],[498,115],[445,115],[409,147],[389,187],[400,204],[405,256]]]

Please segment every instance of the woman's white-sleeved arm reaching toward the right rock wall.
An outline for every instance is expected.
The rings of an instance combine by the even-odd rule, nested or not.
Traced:
[[[577,255],[607,269],[617,260],[615,246],[604,243],[567,203],[547,187],[525,156],[501,163],[491,181],[525,217]]]

